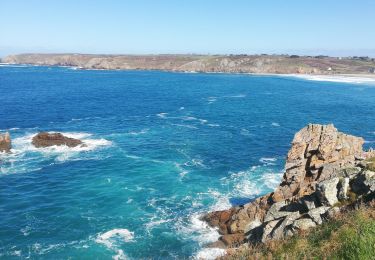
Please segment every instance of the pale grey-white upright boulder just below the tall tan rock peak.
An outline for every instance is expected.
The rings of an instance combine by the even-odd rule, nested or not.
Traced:
[[[335,177],[317,184],[316,192],[322,205],[333,206],[339,201],[337,199],[339,181],[340,179]]]

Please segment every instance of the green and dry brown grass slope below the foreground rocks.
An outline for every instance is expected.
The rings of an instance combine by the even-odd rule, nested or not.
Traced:
[[[374,259],[375,202],[342,213],[309,232],[228,251],[224,259]]]

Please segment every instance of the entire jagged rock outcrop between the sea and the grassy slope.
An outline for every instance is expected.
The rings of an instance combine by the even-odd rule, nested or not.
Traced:
[[[319,225],[337,205],[373,197],[374,151],[364,140],[333,125],[308,125],[294,137],[283,180],[276,190],[241,207],[203,217],[222,234],[211,246],[230,247],[245,241],[265,242]],[[371,197],[371,198],[372,198]]]

